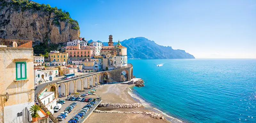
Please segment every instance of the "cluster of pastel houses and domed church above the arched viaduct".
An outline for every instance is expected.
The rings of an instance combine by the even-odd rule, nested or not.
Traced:
[[[108,46],[102,42],[76,39],[67,42],[65,51],[51,51],[48,58],[34,56],[34,82],[52,81],[69,73],[90,73],[101,70],[113,70],[127,66],[127,48],[120,42],[113,43],[109,36]]]

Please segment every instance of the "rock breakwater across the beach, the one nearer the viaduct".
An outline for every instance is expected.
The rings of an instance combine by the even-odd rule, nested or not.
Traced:
[[[142,106],[140,103],[100,103],[99,107],[113,106],[114,108],[138,108]]]

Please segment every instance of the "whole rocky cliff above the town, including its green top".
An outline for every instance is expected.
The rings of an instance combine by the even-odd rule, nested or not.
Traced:
[[[80,29],[68,12],[28,0],[0,0],[0,38],[32,40],[33,45],[78,39]]]

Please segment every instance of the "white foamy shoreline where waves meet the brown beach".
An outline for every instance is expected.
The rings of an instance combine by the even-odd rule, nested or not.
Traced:
[[[148,109],[152,112],[162,114],[164,116],[164,118],[171,123],[184,123],[184,121],[167,115],[166,113],[162,112],[161,110],[157,109],[156,107],[151,106],[150,103],[146,102],[144,99],[141,99],[140,98],[140,97],[142,97],[141,95],[134,93],[134,91],[135,91],[133,89],[134,86],[135,85],[128,86],[128,91],[127,91],[127,93],[132,97],[132,99],[134,101],[139,102],[142,106],[144,106],[146,109]]]

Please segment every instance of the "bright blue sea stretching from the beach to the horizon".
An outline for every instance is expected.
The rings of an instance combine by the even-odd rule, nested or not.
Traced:
[[[193,123],[256,123],[256,59],[128,60],[164,113]],[[163,64],[163,66],[156,66]],[[239,120],[240,119],[240,120]]]

